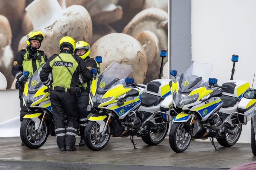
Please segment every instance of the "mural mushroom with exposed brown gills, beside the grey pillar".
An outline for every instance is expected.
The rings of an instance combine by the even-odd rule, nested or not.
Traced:
[[[137,15],[126,25],[123,33],[136,38],[146,51],[149,68],[144,83],[159,76],[161,59],[160,50],[168,48],[168,14],[159,8],[148,8]],[[167,58],[164,59],[164,63]]]

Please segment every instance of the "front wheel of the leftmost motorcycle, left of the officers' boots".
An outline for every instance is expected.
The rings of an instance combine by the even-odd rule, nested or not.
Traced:
[[[35,130],[35,122],[31,119],[24,119],[20,125],[20,138],[25,146],[30,149],[38,149],[45,144],[48,137],[48,126],[43,124],[42,130]]]

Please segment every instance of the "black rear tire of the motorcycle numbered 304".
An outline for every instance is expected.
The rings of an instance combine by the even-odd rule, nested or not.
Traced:
[[[169,123],[166,123],[166,124],[167,124],[167,126],[166,126],[165,131],[162,134],[160,134],[161,136],[158,139],[153,139],[152,136],[154,135],[154,133],[149,131],[149,133],[147,133],[145,136],[141,136],[141,139],[143,140],[143,142],[145,142],[145,144],[148,144],[148,145],[160,144],[166,137],[167,132],[169,130]],[[152,133],[153,133],[153,135],[152,135]]]

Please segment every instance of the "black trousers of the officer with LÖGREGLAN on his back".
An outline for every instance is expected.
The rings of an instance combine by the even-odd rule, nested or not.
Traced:
[[[74,146],[77,129],[77,106],[75,94],[51,91],[50,100],[55,123],[55,135],[59,147]],[[65,129],[65,114],[67,128]]]

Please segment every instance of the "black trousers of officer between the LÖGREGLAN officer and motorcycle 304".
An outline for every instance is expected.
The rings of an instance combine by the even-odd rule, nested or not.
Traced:
[[[84,138],[84,130],[85,126],[88,122],[88,114],[87,106],[89,105],[89,92],[82,92],[82,95],[79,94],[77,97],[77,105],[78,105],[78,121],[80,126],[80,135],[81,138]]]

